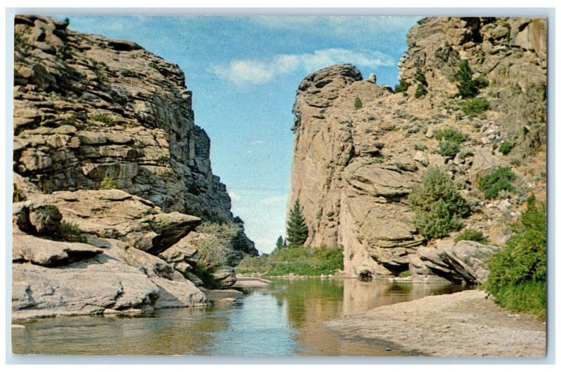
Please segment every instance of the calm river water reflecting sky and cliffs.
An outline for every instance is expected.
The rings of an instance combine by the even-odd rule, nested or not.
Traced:
[[[58,317],[18,322],[15,354],[181,354],[224,356],[404,355],[383,344],[345,340],[320,325],[431,294],[452,284],[386,280],[278,280],[236,303],[167,309],[151,317]]]

